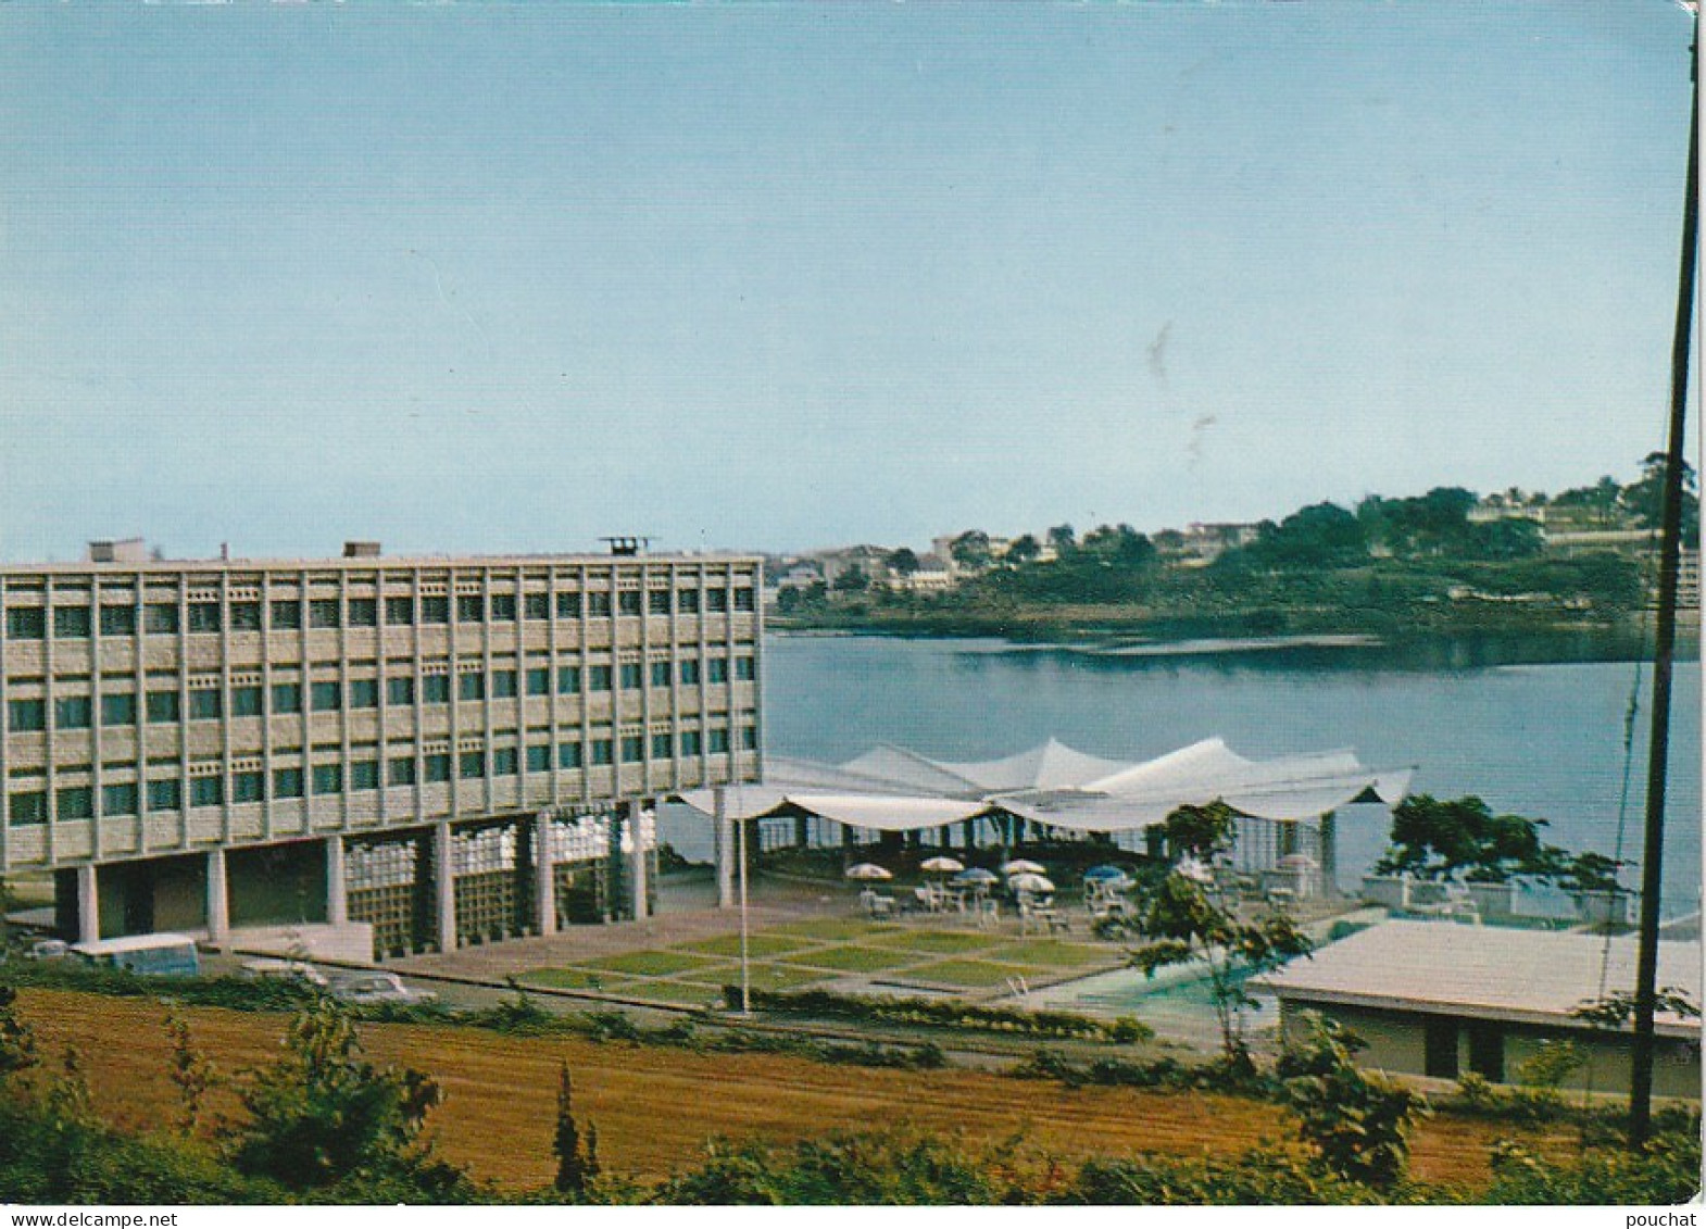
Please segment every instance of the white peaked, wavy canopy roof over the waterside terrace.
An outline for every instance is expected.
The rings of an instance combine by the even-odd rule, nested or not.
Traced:
[[[1409,780],[1411,770],[1365,768],[1351,751],[1247,760],[1218,737],[1146,761],[1104,760],[1054,739],[972,763],[880,746],[839,765],[766,760],[764,783],[725,787],[723,809],[730,819],[814,814],[882,831],[1012,814],[1070,831],[1114,833],[1211,802],[1274,821],[1315,819],[1353,802],[1392,806]],[[715,811],[711,789],[677,797]]]

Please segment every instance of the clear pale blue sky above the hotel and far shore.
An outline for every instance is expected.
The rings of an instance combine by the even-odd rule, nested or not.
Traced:
[[[921,546],[1662,444],[1689,19],[0,7],[0,556]]]

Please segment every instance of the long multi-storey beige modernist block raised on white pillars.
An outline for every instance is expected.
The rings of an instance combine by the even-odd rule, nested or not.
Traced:
[[[85,941],[643,917],[655,802],[757,778],[761,570],[638,546],[0,567],[0,874]]]

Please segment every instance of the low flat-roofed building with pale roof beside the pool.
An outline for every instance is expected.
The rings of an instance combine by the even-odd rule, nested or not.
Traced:
[[[1387,922],[1329,944],[1257,980],[1280,999],[1288,1036],[1302,1012],[1356,1033],[1365,1067],[1457,1079],[1477,1072],[1513,1082],[1542,1041],[1573,1041],[1587,1060],[1573,1087],[1629,1087],[1631,1033],[1595,1029],[1571,1012],[1605,993],[1634,990],[1633,937],[1517,930],[1452,922]],[[1658,985],[1701,1000],[1701,944],[1660,942]],[[1701,1024],[1674,1012],[1657,1021],[1653,1091],[1699,1098]]]

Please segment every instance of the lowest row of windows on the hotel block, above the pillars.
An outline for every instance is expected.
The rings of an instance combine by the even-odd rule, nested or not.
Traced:
[[[647,739],[641,734],[630,734],[619,739],[623,763],[638,763],[645,758]],[[751,725],[740,731],[740,746],[751,751],[757,746],[757,731]],[[618,741],[592,739],[583,748],[580,743],[556,744],[558,768],[582,768],[585,763],[606,766],[616,763]],[[681,732],[681,756],[696,756],[705,751],[723,754],[728,751],[728,731],[713,729],[705,736],[699,731]],[[553,749],[549,743],[536,743],[525,748],[527,772],[551,772]],[[399,756],[384,761],[387,785],[415,785],[416,780],[442,783],[450,780],[452,766],[461,780],[481,780],[485,777],[514,777],[520,766],[522,748],[493,748],[486,751],[461,751],[452,756],[437,753],[423,756],[418,763],[413,756]],[[670,734],[652,736],[652,758],[674,758],[674,739]],[[380,761],[357,760],[350,763],[348,783],[341,763],[314,765],[304,775],[302,768],[275,768],[271,790],[268,790],[266,773],[237,772],[230,775],[232,802],[264,802],[268,799],[300,799],[309,794],[358,794],[379,789]],[[210,807],[223,806],[225,780],[222,777],[191,777],[189,806]],[[181,811],[184,806],[184,782],[176,777],[148,780],[142,785],[123,782],[101,787],[101,816],[121,818],[140,814],[142,804],[148,811]],[[53,792],[53,816],[60,821],[94,819],[96,792],[90,785],[67,785]],[[48,792],[22,790],[7,801],[9,823],[12,826],[29,826],[48,823]]]

